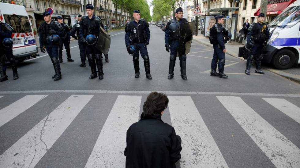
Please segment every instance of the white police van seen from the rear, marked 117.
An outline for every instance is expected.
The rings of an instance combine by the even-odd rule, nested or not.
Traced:
[[[38,53],[32,23],[24,6],[0,3],[0,19],[13,27],[13,55],[17,60]]]

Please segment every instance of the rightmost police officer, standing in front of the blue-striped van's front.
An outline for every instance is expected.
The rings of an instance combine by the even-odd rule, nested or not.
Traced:
[[[264,22],[264,13],[260,13],[257,17],[257,23],[252,23],[247,33],[246,48],[250,49],[249,57],[245,73],[250,75],[252,60],[255,57],[256,70],[255,73],[264,74],[261,70],[261,60],[263,59],[263,47],[267,44],[270,32],[268,26]]]

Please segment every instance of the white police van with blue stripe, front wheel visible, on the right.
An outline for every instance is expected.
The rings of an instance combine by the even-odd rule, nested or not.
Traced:
[[[263,61],[277,69],[288,69],[300,63],[300,0],[283,10],[271,23],[270,38]]]

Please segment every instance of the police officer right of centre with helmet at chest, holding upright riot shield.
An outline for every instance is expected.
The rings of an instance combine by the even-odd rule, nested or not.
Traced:
[[[169,64],[169,74],[168,79],[174,77],[174,66],[176,62],[177,49],[179,45],[180,29],[182,23],[187,23],[188,21],[183,17],[183,10],[181,7],[177,8],[175,11],[175,19],[169,20],[165,31],[165,46],[166,51],[170,52],[170,64]],[[179,65],[180,65],[180,76],[183,80],[187,80],[186,77],[186,55],[179,55]]]

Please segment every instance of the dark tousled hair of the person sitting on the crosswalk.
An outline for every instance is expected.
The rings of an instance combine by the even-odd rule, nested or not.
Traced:
[[[167,109],[168,103],[169,99],[167,98],[167,95],[156,91],[151,92],[148,95],[146,102],[144,102],[141,118],[161,116],[161,112]]]

